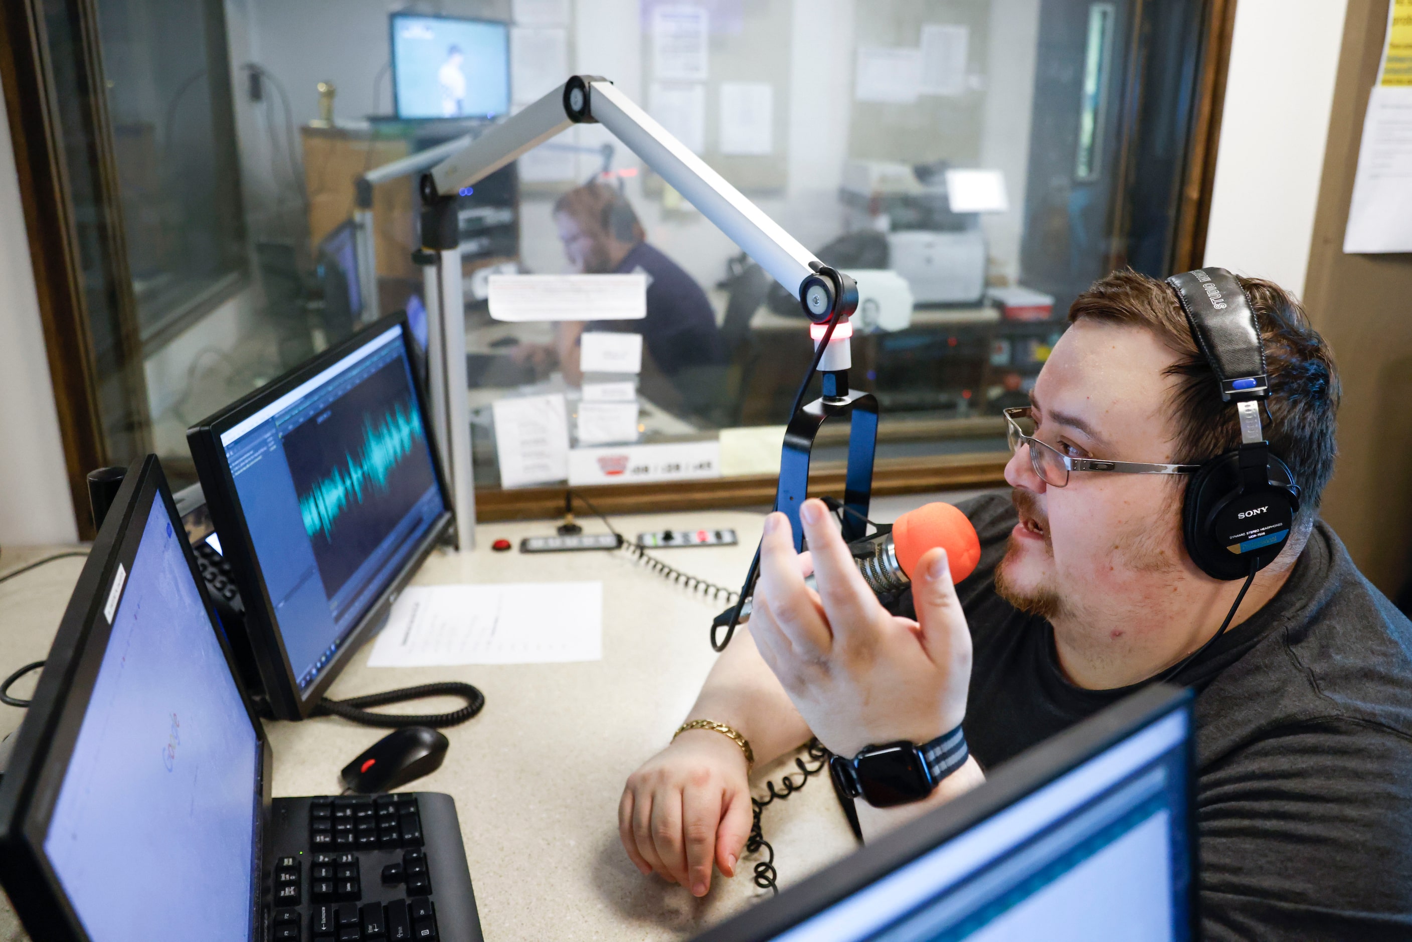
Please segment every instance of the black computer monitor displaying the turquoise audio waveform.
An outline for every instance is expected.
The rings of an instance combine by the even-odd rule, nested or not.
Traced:
[[[450,525],[414,343],[390,315],[186,432],[281,719],[312,712]]]

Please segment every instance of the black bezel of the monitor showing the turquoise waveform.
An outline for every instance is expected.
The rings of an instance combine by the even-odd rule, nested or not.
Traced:
[[[315,678],[313,684],[301,692],[298,675],[289,662],[289,652],[284,645],[284,637],[274,619],[274,603],[270,599],[268,588],[256,559],[254,542],[250,538],[250,528],[236,493],[236,483],[230,475],[230,463],[226,460],[226,449],[220,443],[220,436],[285,393],[313,378],[360,346],[364,346],[393,328],[401,330],[402,350],[407,354],[411,373],[412,394],[417,397],[417,405],[421,410],[422,428],[428,429],[426,443],[432,458],[432,472],[436,477],[436,486],[442,494],[442,513],[438,514],[415,549],[412,549],[402,566],[394,573],[381,597],[367,607],[367,612],[363,613],[353,630],[349,631],[347,643],[333,655],[333,660]],[[441,448],[432,432],[433,425],[428,410],[426,391],[417,371],[414,349],[415,340],[407,325],[407,316],[402,312],[390,314],[186,431],[186,442],[191,446],[191,456],[196,465],[196,476],[201,480],[206,506],[210,508],[210,520],[216,525],[216,534],[220,538],[220,555],[230,564],[232,575],[240,590],[240,599],[244,603],[246,641],[260,674],[261,686],[264,688],[254,692],[257,695],[256,699],[267,705],[275,719],[302,720],[313,712],[323,692],[349,665],[353,654],[387,620],[393,603],[402,588],[411,580],[417,568],[436,548],[452,525],[450,489],[446,486],[446,476],[442,469]]]

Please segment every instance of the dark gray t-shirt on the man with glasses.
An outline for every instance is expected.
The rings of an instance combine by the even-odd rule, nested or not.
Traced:
[[[1063,678],[1049,623],[995,595],[1008,496],[960,507],[981,538],[957,586],[964,727],[993,768],[1138,688]],[[1412,623],[1333,531],[1317,523],[1279,593],[1173,682],[1197,691],[1203,938],[1412,938]]]

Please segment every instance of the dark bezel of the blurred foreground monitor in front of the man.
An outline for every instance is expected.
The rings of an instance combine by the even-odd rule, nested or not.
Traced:
[[[779,895],[712,926],[695,936],[693,942],[768,942],[1175,712],[1185,712],[1187,722],[1186,832],[1192,852],[1192,878],[1187,880],[1186,912],[1189,938],[1200,938],[1196,720],[1192,702],[1189,689],[1168,684],[1139,691],[997,767],[980,788],[928,812],[905,828],[882,835]]]

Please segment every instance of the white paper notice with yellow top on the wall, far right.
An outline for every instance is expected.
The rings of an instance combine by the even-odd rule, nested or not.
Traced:
[[[1363,117],[1343,250],[1412,251],[1412,0],[1388,6],[1382,64]]]

